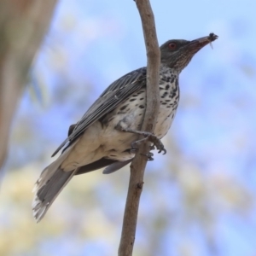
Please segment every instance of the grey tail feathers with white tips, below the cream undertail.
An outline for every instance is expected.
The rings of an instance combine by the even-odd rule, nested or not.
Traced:
[[[32,202],[32,211],[37,222],[44,217],[57,195],[60,194],[61,190],[73,177],[74,172],[63,172],[61,169],[57,169],[47,183],[40,185],[40,188],[36,189]]]

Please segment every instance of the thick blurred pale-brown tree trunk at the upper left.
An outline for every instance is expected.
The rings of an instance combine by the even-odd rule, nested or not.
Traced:
[[[0,0],[0,169],[26,76],[56,0]]]

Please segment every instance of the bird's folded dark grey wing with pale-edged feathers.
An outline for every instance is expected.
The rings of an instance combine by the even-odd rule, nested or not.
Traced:
[[[146,85],[147,68],[142,67],[131,73],[125,74],[120,79],[110,84],[102,95],[88,109],[82,119],[79,120],[75,127],[69,130],[67,139],[61,143],[60,147],[55,150],[54,156],[67,143],[73,143],[90,125],[96,120],[101,119],[105,114],[111,112],[121,102],[125,101],[137,90]]]

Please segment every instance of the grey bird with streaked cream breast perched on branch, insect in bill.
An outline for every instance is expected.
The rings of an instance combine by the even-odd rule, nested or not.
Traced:
[[[61,190],[74,175],[105,167],[115,172],[134,158],[140,136],[149,139],[152,148],[166,153],[160,139],[172,125],[179,101],[179,74],[192,57],[218,38],[214,33],[195,40],[172,39],[160,46],[160,110],[154,132],[141,131],[146,108],[147,67],[141,67],[117,79],[71,125],[60,156],[44,168],[33,189],[33,217],[39,222]],[[148,154],[152,160],[152,154]]]

